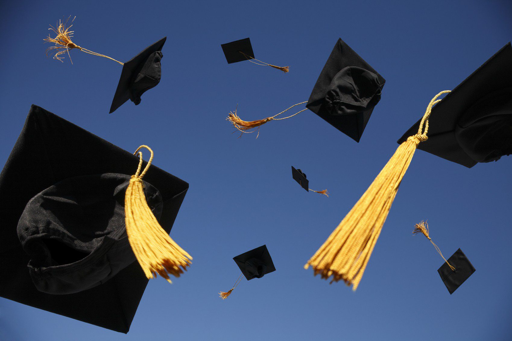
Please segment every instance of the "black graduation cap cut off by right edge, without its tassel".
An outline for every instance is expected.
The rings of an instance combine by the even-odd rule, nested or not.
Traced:
[[[417,132],[420,121],[398,143]],[[429,139],[418,148],[470,168],[512,153],[510,42],[432,108]]]

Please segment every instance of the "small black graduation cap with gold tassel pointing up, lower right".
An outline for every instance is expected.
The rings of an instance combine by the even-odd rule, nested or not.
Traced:
[[[428,240],[430,240],[432,245],[436,248],[436,251],[444,260],[444,264],[439,268],[439,270],[437,270],[437,272],[441,276],[441,280],[446,286],[446,289],[448,289],[450,294],[452,294],[473,274],[473,272],[476,271],[475,268],[466,258],[466,255],[461,249],[458,249],[452,257],[446,260],[439,247],[432,241],[432,238],[430,238],[429,224],[426,222],[421,221],[419,224],[414,226],[413,235],[416,235],[417,233],[422,233]]]

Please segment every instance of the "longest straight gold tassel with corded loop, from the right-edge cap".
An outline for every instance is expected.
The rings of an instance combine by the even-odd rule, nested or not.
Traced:
[[[312,266],[315,275],[320,274],[323,279],[332,276],[331,283],[343,280],[353,286],[352,290],[357,289],[416,146],[428,138],[432,106],[440,101],[437,100],[439,96],[448,92],[442,91],[430,101],[418,134],[398,146],[365,194],[311,257],[305,269]]]

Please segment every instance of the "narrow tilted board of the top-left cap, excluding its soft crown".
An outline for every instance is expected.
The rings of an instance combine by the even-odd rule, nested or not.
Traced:
[[[119,83],[117,84],[116,93],[114,94],[112,105],[110,106],[109,114],[112,114],[117,110],[117,108],[123,105],[124,102],[130,99],[130,84],[134,78],[134,75],[139,73],[139,71],[142,69],[142,66],[144,65],[144,62],[152,53],[162,51],[162,47],[165,44],[166,39],[167,37],[163,37],[124,63],[123,69],[121,71],[121,77],[119,77]]]

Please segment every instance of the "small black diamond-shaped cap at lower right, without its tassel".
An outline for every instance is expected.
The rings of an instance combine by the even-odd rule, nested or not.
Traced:
[[[455,251],[447,261],[455,268],[455,271],[452,271],[448,264],[444,262],[437,272],[439,272],[446,289],[452,294],[476,270],[461,249]]]

